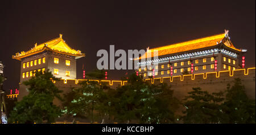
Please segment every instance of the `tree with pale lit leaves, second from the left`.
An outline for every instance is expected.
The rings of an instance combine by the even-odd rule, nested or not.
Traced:
[[[86,75],[85,81],[79,83],[80,88],[73,89],[72,92],[65,95],[67,100],[64,102],[63,112],[73,117],[89,117],[91,123],[97,117],[108,115],[108,96],[104,91],[108,90],[104,82],[90,80],[102,79],[105,72],[95,70]]]

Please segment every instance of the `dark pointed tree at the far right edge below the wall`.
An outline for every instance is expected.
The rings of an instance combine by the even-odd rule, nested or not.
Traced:
[[[224,105],[229,116],[225,123],[255,123],[255,99],[247,97],[241,79],[235,79],[233,86],[228,84]]]

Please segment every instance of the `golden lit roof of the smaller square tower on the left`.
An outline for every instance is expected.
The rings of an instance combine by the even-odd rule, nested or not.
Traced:
[[[44,50],[51,50],[55,51],[56,53],[72,55],[76,56],[76,58],[85,56],[85,54],[81,53],[80,50],[74,50],[71,47],[69,47],[68,44],[62,39],[62,34],[60,34],[59,38],[55,38],[53,40],[41,43],[40,45],[37,45],[37,43],[35,43],[35,47],[33,47],[31,50],[16,53],[16,55],[13,55],[13,59],[20,60],[24,57],[41,53]]]

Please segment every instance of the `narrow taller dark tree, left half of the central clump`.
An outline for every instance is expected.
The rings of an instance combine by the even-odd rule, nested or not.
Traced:
[[[145,88],[143,78],[135,73],[127,80],[127,85],[119,86],[112,95],[111,106],[114,116],[119,122],[130,123],[137,119],[137,108],[141,101],[141,89]]]

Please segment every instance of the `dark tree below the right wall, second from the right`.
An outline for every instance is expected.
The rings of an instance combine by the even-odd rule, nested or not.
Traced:
[[[184,123],[221,123],[227,117],[221,103],[224,101],[224,93],[212,93],[192,88],[192,92],[184,98],[183,106],[187,108],[183,113]]]

